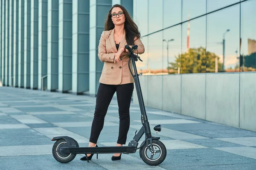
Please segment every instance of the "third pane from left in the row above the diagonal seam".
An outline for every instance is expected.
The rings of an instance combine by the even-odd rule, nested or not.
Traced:
[[[163,28],[181,23],[181,0],[163,0]]]

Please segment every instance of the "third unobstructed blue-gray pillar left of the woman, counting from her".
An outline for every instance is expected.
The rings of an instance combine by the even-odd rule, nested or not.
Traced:
[[[58,0],[48,0],[47,89],[58,89]]]

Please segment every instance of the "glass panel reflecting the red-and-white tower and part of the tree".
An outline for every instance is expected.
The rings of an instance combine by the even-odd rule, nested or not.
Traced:
[[[182,24],[182,73],[205,73],[206,16]]]

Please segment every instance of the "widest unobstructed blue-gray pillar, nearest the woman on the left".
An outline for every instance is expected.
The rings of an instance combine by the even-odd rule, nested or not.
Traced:
[[[89,90],[89,19],[90,0],[73,0],[72,91]]]

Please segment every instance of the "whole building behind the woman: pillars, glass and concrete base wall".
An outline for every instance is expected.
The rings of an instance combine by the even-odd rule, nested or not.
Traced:
[[[3,86],[95,96],[114,4],[142,36],[146,106],[256,131],[256,0],[0,0]]]

